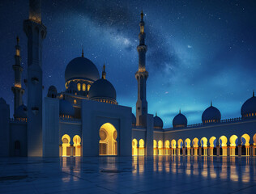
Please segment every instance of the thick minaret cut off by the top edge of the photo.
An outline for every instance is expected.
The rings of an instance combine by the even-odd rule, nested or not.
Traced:
[[[29,0],[29,19],[23,30],[28,36],[28,156],[42,156],[42,41],[41,0]]]

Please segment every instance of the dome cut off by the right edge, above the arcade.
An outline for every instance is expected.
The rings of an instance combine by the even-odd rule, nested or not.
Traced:
[[[254,115],[252,114],[254,113]],[[256,97],[251,97],[250,99],[247,99],[245,103],[241,106],[241,116],[242,117],[250,117],[250,116],[256,116]]]

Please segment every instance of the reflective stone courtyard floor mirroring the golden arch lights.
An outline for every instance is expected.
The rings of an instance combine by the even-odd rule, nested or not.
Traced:
[[[0,158],[0,193],[256,193],[256,158]]]

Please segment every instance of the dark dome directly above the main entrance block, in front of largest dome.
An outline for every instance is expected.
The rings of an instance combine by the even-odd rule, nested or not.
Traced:
[[[89,91],[89,99],[112,99],[116,101],[117,93],[112,83],[104,78],[92,83]]]

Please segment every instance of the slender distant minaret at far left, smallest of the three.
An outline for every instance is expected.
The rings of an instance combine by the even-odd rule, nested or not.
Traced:
[[[24,89],[21,87],[21,74],[23,72],[23,67],[20,65],[20,47],[19,47],[19,37],[17,36],[17,44],[15,46],[15,65],[12,65],[12,69],[15,71],[15,86],[11,87],[11,91],[15,95],[15,107],[14,112],[23,103],[22,96],[24,94]],[[14,115],[15,116],[15,115]]]

